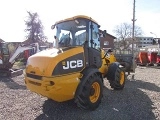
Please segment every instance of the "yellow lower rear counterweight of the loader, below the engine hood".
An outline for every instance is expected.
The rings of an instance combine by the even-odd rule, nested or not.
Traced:
[[[43,77],[42,80],[36,80],[25,76],[25,82],[29,90],[57,102],[63,102],[74,98],[75,91],[80,82],[79,76],[80,73],[75,73],[61,77]],[[51,85],[51,81],[54,85]]]

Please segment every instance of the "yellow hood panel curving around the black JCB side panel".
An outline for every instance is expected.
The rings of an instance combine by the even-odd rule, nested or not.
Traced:
[[[75,47],[70,50],[64,51],[64,53],[59,53],[55,57],[41,57],[35,55],[29,58],[29,63],[26,67],[26,73],[35,72],[35,75],[51,76],[54,68],[59,63],[59,61],[83,52],[83,47]]]

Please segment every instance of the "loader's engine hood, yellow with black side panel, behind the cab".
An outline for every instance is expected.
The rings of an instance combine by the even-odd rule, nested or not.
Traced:
[[[83,53],[83,47],[43,50],[28,58],[26,73],[38,76],[65,74],[66,72],[70,72],[69,68],[63,69],[65,66],[67,68],[69,61],[72,61],[72,67],[76,68],[80,66],[81,68],[79,67],[78,70],[81,70],[84,67],[80,63],[84,62]],[[76,69],[74,70],[76,71]]]

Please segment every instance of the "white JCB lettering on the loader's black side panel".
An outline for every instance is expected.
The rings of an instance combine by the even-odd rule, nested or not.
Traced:
[[[73,68],[79,68],[83,67],[83,61],[82,60],[71,60],[71,61],[64,61],[62,62],[63,69],[73,69]]]

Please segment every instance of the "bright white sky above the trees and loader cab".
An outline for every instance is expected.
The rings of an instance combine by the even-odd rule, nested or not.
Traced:
[[[144,36],[160,37],[160,0],[136,0],[136,22]],[[116,25],[133,18],[133,0],[0,0],[0,38],[7,42],[25,40],[27,11],[37,12],[48,41],[53,41],[51,25],[75,15],[95,19],[101,29],[115,35]],[[151,34],[150,32],[154,33]]]

